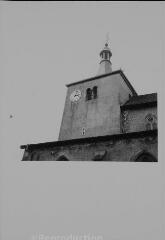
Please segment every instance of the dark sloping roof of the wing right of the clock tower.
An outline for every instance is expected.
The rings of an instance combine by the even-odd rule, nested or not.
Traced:
[[[132,96],[121,109],[132,109],[136,107],[149,107],[157,105],[157,93]]]

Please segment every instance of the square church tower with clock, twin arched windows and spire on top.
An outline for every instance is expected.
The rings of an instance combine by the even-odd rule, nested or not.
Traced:
[[[136,92],[121,70],[112,71],[111,56],[106,43],[97,76],[67,85],[60,141],[121,132],[120,106]]]

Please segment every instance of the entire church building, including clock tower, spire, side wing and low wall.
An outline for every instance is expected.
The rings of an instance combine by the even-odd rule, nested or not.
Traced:
[[[67,84],[58,141],[22,145],[23,161],[157,161],[157,94],[137,95],[111,56],[106,43],[97,75]]]

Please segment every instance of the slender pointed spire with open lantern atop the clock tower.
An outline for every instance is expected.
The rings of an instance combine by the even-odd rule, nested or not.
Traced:
[[[101,60],[100,60],[98,75],[112,72],[112,64],[110,61],[111,56],[112,56],[112,53],[108,46],[108,39],[107,39],[105,43],[105,47],[100,52]]]

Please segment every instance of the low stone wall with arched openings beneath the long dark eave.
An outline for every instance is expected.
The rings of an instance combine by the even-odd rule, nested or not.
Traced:
[[[157,136],[25,150],[23,160],[56,161],[65,157],[71,161],[135,161],[143,151],[157,159]]]

